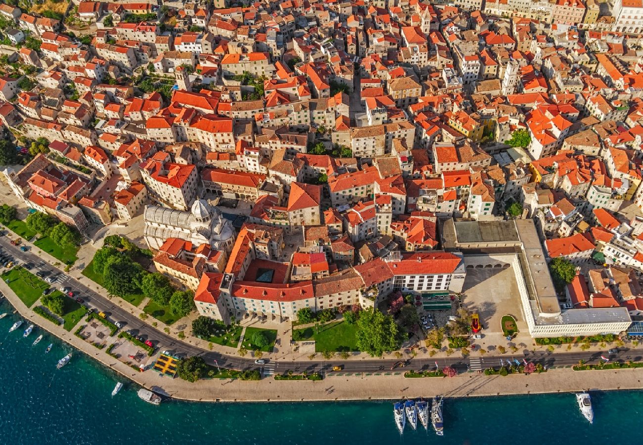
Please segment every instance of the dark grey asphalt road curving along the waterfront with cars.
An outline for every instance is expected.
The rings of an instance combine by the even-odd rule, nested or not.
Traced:
[[[393,365],[398,363],[399,360],[395,359],[361,359],[361,360],[343,360],[340,358],[332,358],[330,360],[268,360],[267,370],[263,367],[255,365],[254,359],[240,358],[236,356],[226,356],[219,352],[212,352],[204,350],[189,343],[176,340],[165,332],[159,331],[147,323],[143,323],[138,316],[129,313],[127,309],[115,305],[107,296],[100,295],[96,291],[90,289],[84,284],[78,282],[75,278],[69,277],[60,269],[55,268],[51,264],[42,260],[38,255],[32,253],[32,248],[23,252],[18,246],[10,244],[11,238],[8,236],[0,237],[0,251],[10,254],[14,259],[21,263],[33,264],[32,273],[37,271],[44,271],[46,277],[54,277],[57,282],[51,284],[52,287],[67,286],[70,287],[75,296],[80,296],[85,300],[84,304],[87,307],[96,309],[96,311],[103,311],[107,314],[109,320],[112,322],[122,322],[123,329],[132,330],[137,336],[143,336],[146,340],[149,339],[159,349],[169,349],[177,354],[185,354],[185,356],[201,356],[210,365],[218,365],[222,368],[231,368],[237,370],[258,369],[266,372],[267,370],[274,370],[277,373],[283,373],[287,370],[293,372],[302,372],[303,370],[311,372],[332,372],[332,367],[341,366],[342,372],[390,372]],[[523,350],[522,354],[502,354],[493,356],[487,354],[480,356],[475,354],[473,357],[463,358],[461,356],[448,357],[448,358],[413,358],[410,359],[405,368],[396,368],[400,370],[432,370],[442,368],[447,365],[455,367],[460,371],[469,370],[473,365],[473,369],[500,367],[501,360],[523,362],[533,361],[534,363],[541,363],[545,367],[552,366],[566,366],[575,365],[579,360],[583,359],[586,363],[598,363],[601,361],[601,355],[608,357],[607,350],[605,351],[575,351],[575,352],[533,352],[530,350]],[[306,354],[302,354],[302,358]],[[455,354],[454,354],[455,355]],[[617,354],[612,354],[610,359],[619,359],[622,361],[641,361],[643,359],[643,352],[638,350],[628,350],[620,348]],[[477,366],[476,366],[477,365]],[[270,373],[270,372],[269,372]]]

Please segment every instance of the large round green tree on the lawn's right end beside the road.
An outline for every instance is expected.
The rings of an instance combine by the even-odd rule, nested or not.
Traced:
[[[397,349],[398,331],[392,316],[368,308],[361,311],[357,325],[356,343],[359,350],[379,357],[386,350]]]

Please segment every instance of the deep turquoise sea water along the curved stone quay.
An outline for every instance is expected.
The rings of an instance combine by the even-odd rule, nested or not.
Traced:
[[[594,392],[593,425],[571,394],[449,399],[444,437],[408,426],[399,437],[390,402],[153,406],[138,399],[131,383],[112,398],[118,377],[80,352],[56,370],[71,348],[49,334],[32,347],[42,331],[23,339],[23,325],[7,334],[15,320],[0,320],[5,444],[624,444],[640,437],[638,391]]]

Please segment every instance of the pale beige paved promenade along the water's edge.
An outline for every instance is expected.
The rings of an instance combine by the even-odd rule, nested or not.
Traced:
[[[400,399],[402,397],[489,396],[506,394],[536,394],[543,392],[572,392],[588,389],[638,389],[643,368],[572,371],[557,368],[543,374],[485,376],[466,373],[457,377],[426,377],[417,379],[397,375],[332,376],[323,381],[275,381],[272,377],[260,381],[204,379],[190,383],[179,378],[161,377],[147,370],[136,372],[76,337],[72,332],[45,320],[26,307],[14,292],[0,281],[0,291],[26,320],[33,322],[69,343],[87,356],[146,388],[162,389],[176,399],[191,401],[337,401],[368,399]],[[68,366],[73,366],[73,359]]]

